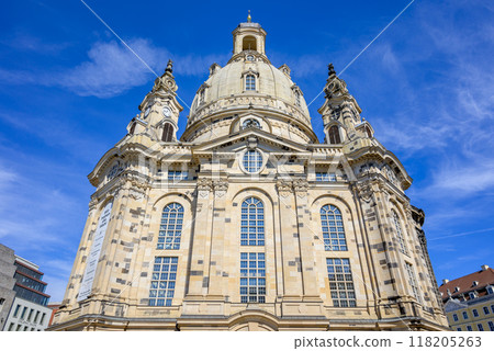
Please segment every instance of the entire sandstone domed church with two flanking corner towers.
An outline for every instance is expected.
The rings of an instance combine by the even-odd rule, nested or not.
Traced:
[[[266,31],[233,36],[180,139],[169,61],[89,174],[50,329],[447,330],[412,179],[345,81],[329,65],[319,143]]]

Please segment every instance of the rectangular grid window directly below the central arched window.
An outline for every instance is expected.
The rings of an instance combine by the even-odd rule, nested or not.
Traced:
[[[266,258],[262,252],[240,253],[240,302],[266,303]]]

